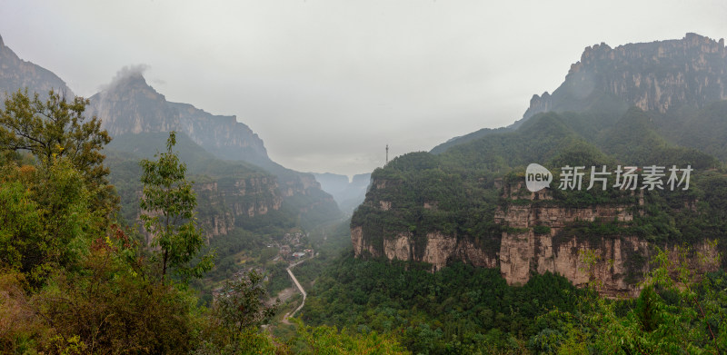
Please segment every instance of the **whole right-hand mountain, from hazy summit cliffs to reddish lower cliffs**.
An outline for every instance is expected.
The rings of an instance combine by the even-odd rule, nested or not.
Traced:
[[[521,120],[375,170],[352,218],[355,254],[433,270],[465,261],[499,268],[510,284],[545,271],[575,285],[592,275],[605,295],[636,295],[655,247],[674,258],[684,242],[702,253],[725,250],[726,75],[724,41],[701,35],[587,47]],[[550,188],[525,189],[530,163],[553,172]],[[624,191],[610,173],[608,189],[586,191],[592,166],[625,165],[639,167],[640,178],[651,165],[689,167],[692,182],[688,191]],[[587,169],[583,191],[559,187],[565,166]],[[584,251],[597,261],[590,271]]]

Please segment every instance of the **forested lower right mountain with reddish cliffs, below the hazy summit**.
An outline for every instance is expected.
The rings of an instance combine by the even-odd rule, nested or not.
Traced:
[[[372,175],[366,200],[352,218],[352,242],[358,257],[423,261],[438,270],[451,261],[499,268],[510,284],[523,284],[533,272],[557,272],[576,285],[603,282],[604,295],[633,295],[648,271],[652,246],[670,250],[690,242],[699,251],[716,252],[707,239],[722,239],[727,222],[719,215],[723,173],[718,163],[692,149],[665,143],[653,133],[640,109],[625,113],[603,134],[602,150],[587,143],[566,123],[576,113],[540,113],[511,133],[487,135],[445,153],[409,153]],[[584,117],[587,119],[587,117]],[[628,134],[626,134],[628,133]],[[642,138],[645,140],[641,142]],[[633,149],[631,149],[632,147]],[[565,165],[675,164],[694,172],[688,191],[637,191],[600,184],[587,190],[559,188]],[[553,173],[550,189],[525,189],[524,167],[542,163]],[[639,176],[640,187],[643,175]],[[600,183],[600,182],[596,182]],[[702,196],[714,193],[712,202]],[[723,245],[721,244],[721,248]],[[583,252],[596,263],[589,270]],[[697,267],[697,266],[695,266]],[[713,270],[715,265],[702,265]]]

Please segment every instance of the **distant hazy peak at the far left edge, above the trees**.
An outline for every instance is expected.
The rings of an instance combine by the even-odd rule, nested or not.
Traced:
[[[12,49],[5,46],[3,37],[0,36],[0,97],[5,92],[13,93],[25,88],[30,93],[42,96],[54,89],[67,97],[74,97],[74,93],[61,78],[39,65],[20,59]]]

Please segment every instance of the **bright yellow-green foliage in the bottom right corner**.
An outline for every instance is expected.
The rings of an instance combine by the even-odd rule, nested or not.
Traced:
[[[617,302],[597,296],[592,282],[593,292],[574,315],[573,324],[583,327],[570,338],[586,338],[593,352],[604,354],[722,354],[727,338],[724,282],[721,276],[695,272],[689,261],[696,257],[703,265],[719,265],[720,255],[689,248],[655,251],[642,292],[632,306],[625,304],[624,315]],[[559,353],[575,344],[564,341]]]

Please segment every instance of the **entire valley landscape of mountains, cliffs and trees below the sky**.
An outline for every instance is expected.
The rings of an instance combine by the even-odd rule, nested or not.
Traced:
[[[150,83],[75,98],[0,39],[0,351],[727,351],[722,39],[586,47],[512,124],[351,178]]]

